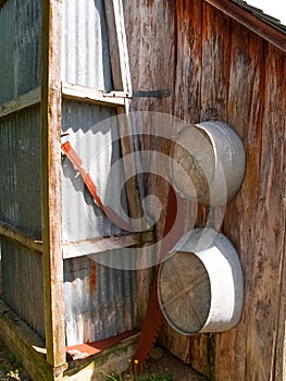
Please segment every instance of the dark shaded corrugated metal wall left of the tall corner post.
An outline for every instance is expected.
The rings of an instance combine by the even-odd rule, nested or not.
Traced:
[[[40,0],[9,0],[0,10],[1,112],[40,84]],[[0,222],[38,241],[40,153],[38,105],[0,119]],[[0,245],[2,300],[45,337],[41,254],[3,236]]]

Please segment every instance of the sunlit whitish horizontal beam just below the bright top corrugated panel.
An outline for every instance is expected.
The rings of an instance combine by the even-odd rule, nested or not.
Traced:
[[[69,83],[62,84],[62,95],[64,99],[110,107],[124,106],[125,97],[128,96],[123,91],[104,93],[103,90],[95,90],[90,87]]]

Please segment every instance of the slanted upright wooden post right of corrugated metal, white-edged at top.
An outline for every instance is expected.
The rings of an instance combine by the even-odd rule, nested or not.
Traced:
[[[105,17],[108,25],[109,48],[111,58],[112,79],[116,90],[133,94],[129,70],[128,49],[125,33],[122,0],[104,0]],[[130,99],[125,99],[124,107],[117,107],[119,132],[121,136],[121,147],[123,155],[123,165],[126,182],[126,194],[128,200],[129,216],[138,220],[144,216],[140,202],[138,179],[130,174],[137,173],[136,162],[128,160],[128,155],[135,151],[134,126],[129,114]],[[124,118],[122,114],[126,114]],[[125,159],[127,158],[127,160]],[[140,270],[137,271],[137,322],[141,323],[146,315],[146,300],[149,299],[150,269],[144,268],[146,256],[142,255],[142,262],[138,263]]]

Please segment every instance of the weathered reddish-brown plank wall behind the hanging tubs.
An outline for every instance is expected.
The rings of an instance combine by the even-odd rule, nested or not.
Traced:
[[[190,123],[217,118],[237,131],[247,152],[243,187],[222,226],[244,268],[241,321],[190,339],[165,325],[161,342],[211,379],[283,380],[286,53],[201,0],[124,4],[133,87],[172,93],[134,108]]]

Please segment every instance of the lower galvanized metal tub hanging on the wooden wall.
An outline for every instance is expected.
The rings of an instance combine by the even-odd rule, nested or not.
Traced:
[[[185,234],[160,266],[158,298],[166,321],[179,333],[235,327],[243,311],[244,278],[232,243],[213,230]]]

